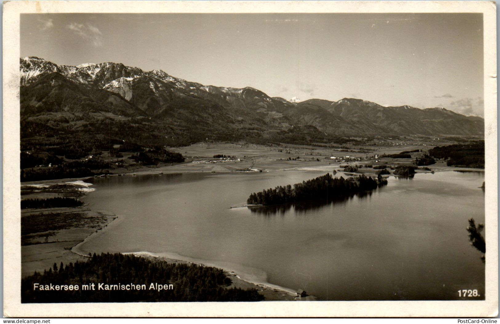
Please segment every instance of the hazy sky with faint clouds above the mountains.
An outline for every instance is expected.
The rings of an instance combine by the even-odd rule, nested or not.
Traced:
[[[23,14],[20,56],[483,116],[482,14]]]

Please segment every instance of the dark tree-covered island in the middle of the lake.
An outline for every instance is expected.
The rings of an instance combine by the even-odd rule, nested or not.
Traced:
[[[293,187],[291,185],[278,186],[274,189],[269,188],[252,193],[246,203],[249,205],[274,205],[322,198],[332,199],[373,190],[386,184],[387,180],[381,176],[372,179],[361,174],[344,179],[343,177],[335,178],[326,173],[323,176],[302,181],[302,183],[295,183]]]

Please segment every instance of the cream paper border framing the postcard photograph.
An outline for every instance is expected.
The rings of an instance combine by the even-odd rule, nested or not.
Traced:
[[[21,14],[479,13],[483,19],[485,300],[21,303],[19,58]],[[51,24],[51,23],[48,23]],[[77,26],[74,26],[77,28]],[[7,2],[3,15],[4,316],[495,316],[497,273],[496,8],[492,2]],[[56,62],[57,63],[57,62]],[[81,62],[83,63],[83,62]],[[98,63],[98,62],[96,62]],[[230,85],[227,85],[230,86]],[[465,227],[465,225],[464,225]],[[408,251],[410,253],[410,251]],[[451,269],[450,271],[453,271]],[[457,269],[459,271],[459,269]]]

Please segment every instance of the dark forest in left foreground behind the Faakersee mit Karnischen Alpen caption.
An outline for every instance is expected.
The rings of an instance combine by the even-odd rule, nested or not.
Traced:
[[[172,284],[173,289],[148,289],[150,283]],[[79,285],[78,290],[34,290],[33,283]],[[83,290],[83,284],[95,290]],[[145,290],[97,290],[97,284],[146,284]],[[21,280],[21,302],[154,302],[154,301],[259,301],[256,289],[229,288],[223,270],[121,253],[93,254],[84,262],[56,263],[43,273]]]

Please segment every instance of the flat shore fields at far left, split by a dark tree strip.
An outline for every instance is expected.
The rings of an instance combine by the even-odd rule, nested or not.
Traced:
[[[85,185],[68,180],[23,183],[22,199],[79,197]],[[34,186],[32,186],[34,184]],[[43,272],[57,263],[83,260],[70,249],[87,236],[107,226],[116,216],[83,207],[28,208],[21,210],[21,275]]]

